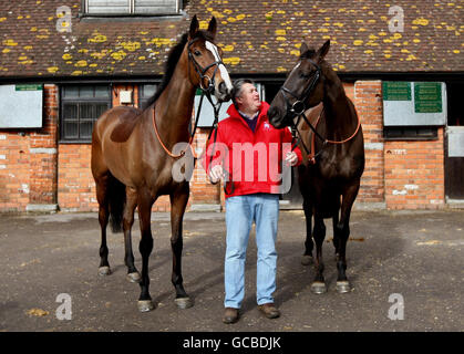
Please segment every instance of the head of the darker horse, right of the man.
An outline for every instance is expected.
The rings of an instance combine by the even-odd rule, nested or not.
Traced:
[[[323,98],[321,64],[330,48],[327,41],[318,51],[301,43],[300,58],[268,111],[270,124],[276,128],[291,126],[306,110],[318,105]]]

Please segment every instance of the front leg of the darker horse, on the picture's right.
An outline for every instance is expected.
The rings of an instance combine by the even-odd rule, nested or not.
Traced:
[[[334,232],[338,235],[338,257],[337,257],[337,291],[344,293],[350,291],[350,283],[348,281],[347,271],[347,242],[350,236],[350,215],[354,199],[359,191],[359,181],[350,185],[343,192],[343,199],[341,204],[340,222],[336,226]]]

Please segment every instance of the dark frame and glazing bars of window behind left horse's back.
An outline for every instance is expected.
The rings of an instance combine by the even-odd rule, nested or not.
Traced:
[[[72,97],[72,98],[65,98],[64,97],[64,90],[66,87],[82,87],[82,86],[91,86],[91,87],[105,86],[107,88],[109,96],[107,96],[107,98],[95,97],[95,91],[94,91],[93,97]],[[71,104],[76,104],[78,107],[79,107],[79,104],[82,104],[82,103],[106,103],[107,104],[106,110],[110,110],[110,108],[113,107],[112,85],[111,84],[65,84],[65,85],[60,85],[60,115],[59,115],[60,136],[59,136],[59,144],[90,144],[90,143],[92,143],[92,136],[85,137],[85,138],[80,137],[81,117],[79,116],[79,111],[78,111],[78,137],[73,137],[73,138],[66,138],[65,137],[65,134],[64,134],[64,122],[65,122],[64,105],[70,104],[70,103]],[[96,122],[97,118],[99,117],[95,117],[94,119],[92,119],[93,121],[92,122],[92,128],[93,128],[93,124]]]

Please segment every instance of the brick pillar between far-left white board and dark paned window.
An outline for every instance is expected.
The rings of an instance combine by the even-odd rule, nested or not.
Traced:
[[[43,125],[31,133],[28,211],[55,211],[58,189],[58,86],[43,87]]]

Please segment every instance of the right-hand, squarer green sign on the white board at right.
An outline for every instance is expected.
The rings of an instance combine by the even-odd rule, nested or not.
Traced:
[[[442,108],[442,85],[439,82],[414,83],[414,112],[440,113]]]

